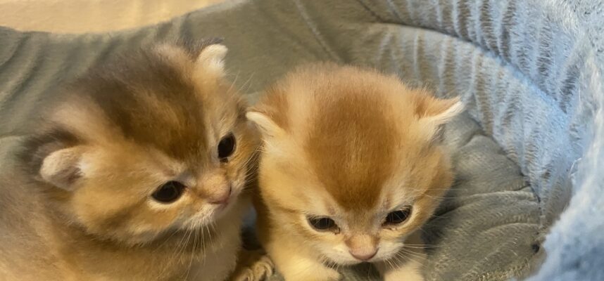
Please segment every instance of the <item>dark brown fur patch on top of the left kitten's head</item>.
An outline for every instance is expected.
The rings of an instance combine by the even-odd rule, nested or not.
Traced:
[[[200,89],[189,73],[193,61],[184,61],[177,46],[171,56],[165,48],[133,53],[82,77],[73,89],[92,99],[125,138],[199,163],[224,130],[214,123],[233,123],[238,105],[220,96],[222,89]]]

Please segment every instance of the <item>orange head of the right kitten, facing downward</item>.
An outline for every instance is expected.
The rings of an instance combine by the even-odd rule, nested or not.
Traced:
[[[293,72],[247,114],[272,218],[327,261],[394,259],[453,181],[439,132],[462,108],[371,70]]]

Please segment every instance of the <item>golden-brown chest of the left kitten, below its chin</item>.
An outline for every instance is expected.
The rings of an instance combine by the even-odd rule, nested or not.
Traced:
[[[238,221],[227,219],[211,232],[174,235],[146,247],[72,244],[77,249],[65,251],[63,256],[73,266],[69,271],[81,274],[76,280],[222,281],[234,269],[241,247]]]

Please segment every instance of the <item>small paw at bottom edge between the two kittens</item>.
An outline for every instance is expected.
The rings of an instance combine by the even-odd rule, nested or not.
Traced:
[[[260,251],[248,252],[246,259],[231,278],[232,281],[260,281],[270,277],[275,265]]]

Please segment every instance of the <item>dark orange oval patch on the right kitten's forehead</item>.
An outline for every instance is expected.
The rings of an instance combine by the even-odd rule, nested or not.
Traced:
[[[379,89],[341,84],[331,91],[347,93],[315,100],[305,142],[309,164],[341,207],[375,207],[394,172],[398,128]]]

